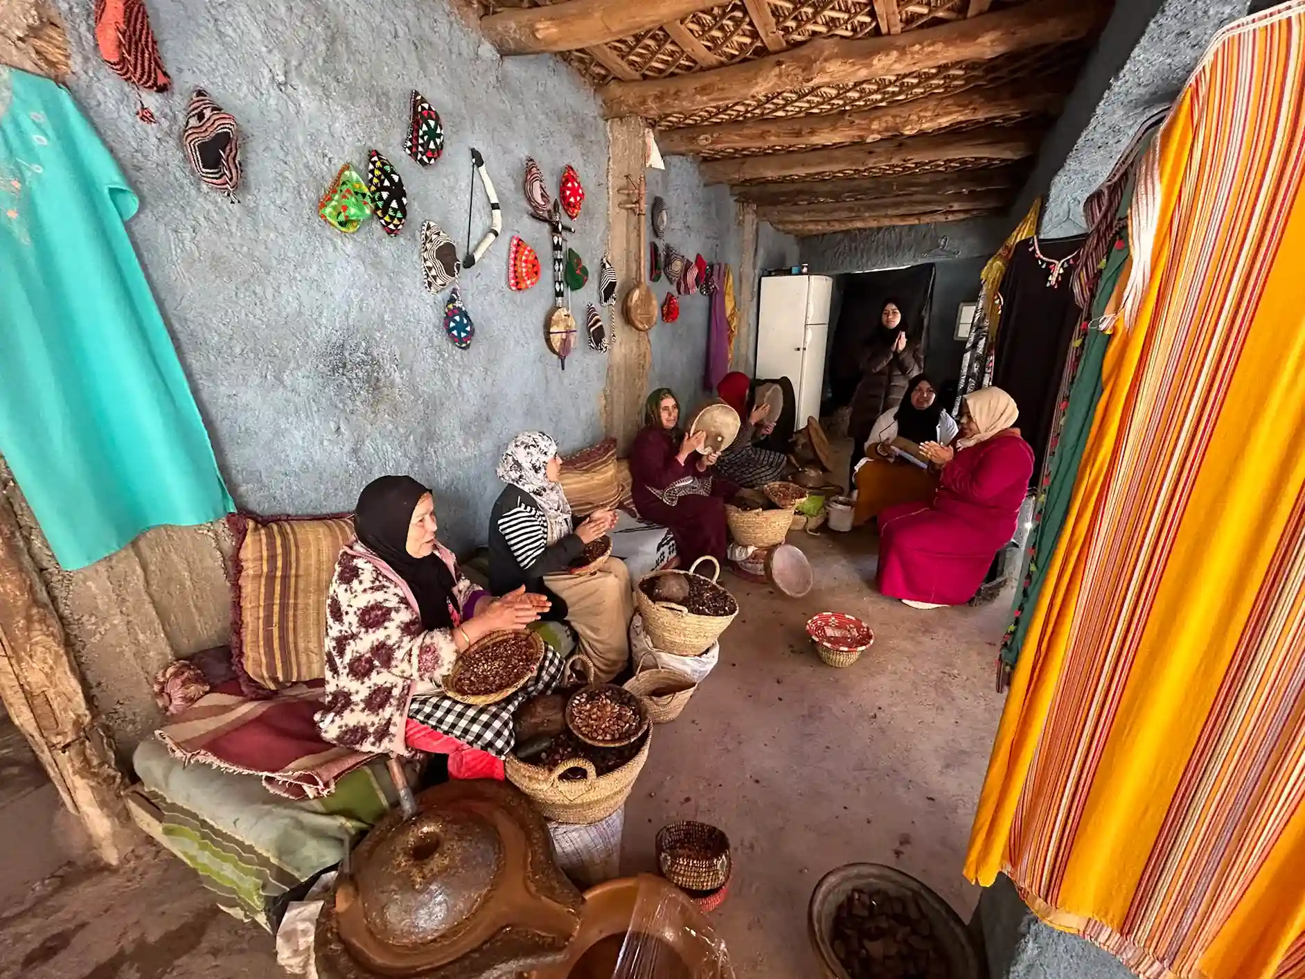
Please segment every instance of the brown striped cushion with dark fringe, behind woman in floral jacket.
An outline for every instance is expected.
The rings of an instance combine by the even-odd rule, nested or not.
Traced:
[[[322,679],[326,593],[339,550],[354,539],[354,521],[240,516],[234,522],[239,522],[239,560],[232,660],[253,683],[273,691]]]

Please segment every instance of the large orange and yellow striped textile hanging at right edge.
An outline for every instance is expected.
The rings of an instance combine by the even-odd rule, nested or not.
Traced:
[[[1143,158],[1150,273],[966,862],[1147,979],[1305,976],[1302,148],[1292,0],[1215,38]]]

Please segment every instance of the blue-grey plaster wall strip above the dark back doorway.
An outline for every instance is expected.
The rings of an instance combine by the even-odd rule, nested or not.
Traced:
[[[910,225],[800,239],[801,260],[813,273],[902,269],[928,261],[990,256],[1010,234],[1005,217],[944,225]]]

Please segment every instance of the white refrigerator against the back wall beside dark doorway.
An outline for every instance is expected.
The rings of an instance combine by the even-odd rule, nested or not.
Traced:
[[[829,275],[766,275],[757,313],[757,377],[787,377],[797,397],[797,427],[820,418],[829,342]]]

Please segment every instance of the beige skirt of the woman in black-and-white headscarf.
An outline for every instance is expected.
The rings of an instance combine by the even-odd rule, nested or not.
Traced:
[[[625,561],[608,557],[592,574],[548,574],[544,581],[566,603],[566,621],[594,663],[594,679],[609,683],[630,658],[634,591]]]

